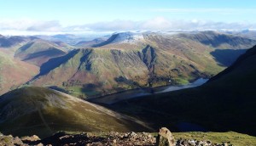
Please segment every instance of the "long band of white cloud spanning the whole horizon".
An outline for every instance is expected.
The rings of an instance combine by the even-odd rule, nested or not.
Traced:
[[[63,27],[58,21],[0,20],[0,34],[36,35],[61,33],[91,33],[106,31],[171,31],[171,30],[245,30],[256,29],[256,24],[248,22],[215,22],[210,20],[168,20],[156,17],[151,20],[113,20],[85,25]]]

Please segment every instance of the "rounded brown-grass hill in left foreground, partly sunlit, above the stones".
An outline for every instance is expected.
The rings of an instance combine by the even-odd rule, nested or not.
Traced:
[[[23,87],[0,97],[0,131],[49,136],[55,132],[128,132],[147,128],[96,104],[44,87]]]

